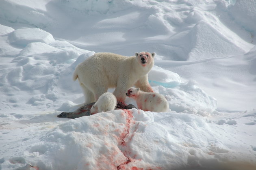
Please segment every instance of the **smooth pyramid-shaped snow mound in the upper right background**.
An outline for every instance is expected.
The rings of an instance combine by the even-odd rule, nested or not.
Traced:
[[[223,29],[224,26],[219,27]],[[253,45],[245,42],[236,34],[228,32],[223,34],[216,29],[215,25],[200,21],[191,29],[191,35],[195,41],[189,53],[188,60],[202,60],[207,58],[225,57],[228,55],[244,54],[248,52]],[[234,38],[240,41],[234,41]],[[223,48],[224,47],[224,48]]]

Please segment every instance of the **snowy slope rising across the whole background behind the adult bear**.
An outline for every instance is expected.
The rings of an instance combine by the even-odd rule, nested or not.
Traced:
[[[244,54],[254,42],[253,0],[210,0],[207,4],[188,0],[46,0],[24,4],[4,0],[0,21],[38,27],[96,52],[130,56],[131,52],[152,51],[167,60],[202,60]],[[9,13],[13,7],[16,10]],[[245,16],[249,18],[243,19]],[[135,39],[143,43],[133,43]]]

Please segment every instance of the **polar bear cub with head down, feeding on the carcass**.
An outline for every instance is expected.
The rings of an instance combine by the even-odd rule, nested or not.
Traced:
[[[103,93],[96,103],[91,107],[91,114],[115,110],[117,99],[112,93]]]

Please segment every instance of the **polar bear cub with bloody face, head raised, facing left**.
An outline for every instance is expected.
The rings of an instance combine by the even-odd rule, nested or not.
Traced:
[[[165,97],[159,93],[143,92],[139,88],[131,87],[127,90],[127,97],[135,99],[138,108],[151,112],[167,112],[169,104]]]

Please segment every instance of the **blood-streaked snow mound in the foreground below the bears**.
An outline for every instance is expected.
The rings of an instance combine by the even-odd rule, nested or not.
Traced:
[[[182,129],[177,129],[181,123]],[[209,133],[205,134],[203,129]],[[207,153],[211,147],[207,138],[213,135],[206,121],[193,115],[154,114],[136,109],[84,116],[48,129],[41,135],[31,133],[33,138],[22,140],[25,150],[19,163],[30,163],[45,170],[185,166],[188,160],[189,163],[193,163],[192,159],[199,161],[202,155],[211,157]],[[184,143],[178,144],[179,136],[186,136],[182,133],[189,136]],[[40,142],[33,142],[37,140]],[[145,142],[149,145],[144,145]],[[193,149],[202,146],[208,149]],[[224,149],[221,143],[219,147]],[[15,156],[11,158],[17,159]]]

